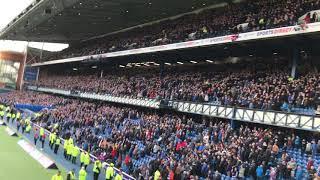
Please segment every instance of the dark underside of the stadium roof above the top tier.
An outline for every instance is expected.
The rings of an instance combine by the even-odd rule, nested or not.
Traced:
[[[36,0],[0,39],[73,42],[223,5],[226,0]],[[228,1],[228,0],[227,0]]]

